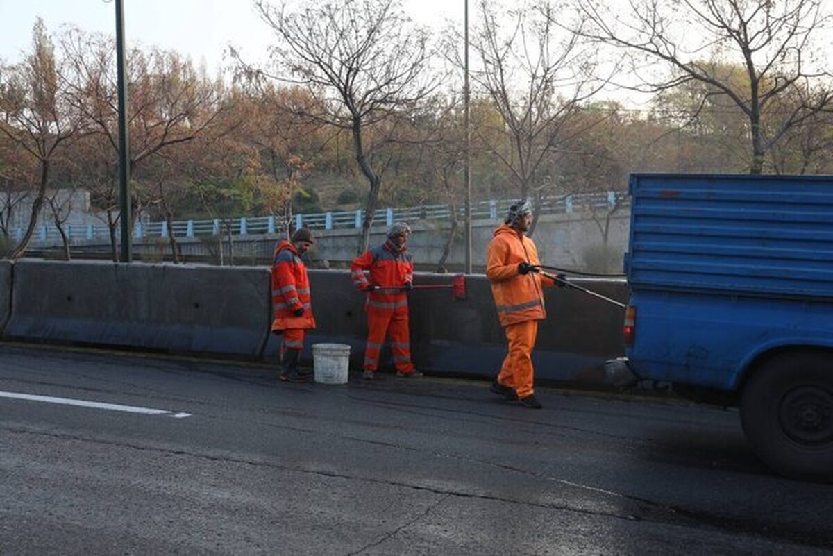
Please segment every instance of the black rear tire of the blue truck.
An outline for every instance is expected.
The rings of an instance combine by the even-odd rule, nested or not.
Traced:
[[[780,355],[741,393],[741,424],[763,462],[793,479],[833,482],[833,355]]]

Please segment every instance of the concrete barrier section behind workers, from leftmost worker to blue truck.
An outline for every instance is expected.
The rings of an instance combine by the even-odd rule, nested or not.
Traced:
[[[351,366],[361,368],[367,334],[365,295],[355,290],[347,271],[309,271],[317,329],[307,335],[302,357],[312,360],[311,346],[336,342],[351,346]],[[451,275],[418,274],[418,284],[450,284]],[[617,300],[627,300],[623,280],[576,280]],[[624,310],[578,290],[546,288],[547,319],[542,320],[534,361],[536,375],[556,382],[597,382],[602,364],[623,355]],[[497,320],[486,276],[466,276],[466,300],[450,289],[414,290],[409,294],[412,358],[417,367],[436,374],[495,375],[506,355],[506,337]],[[277,359],[280,337],[273,336],[265,356]],[[390,366],[390,352],[382,359]],[[383,364],[385,365],[385,364]]]

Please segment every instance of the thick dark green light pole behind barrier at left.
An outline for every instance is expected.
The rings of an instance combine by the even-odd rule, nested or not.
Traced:
[[[130,230],[130,138],[127,137],[127,83],[124,61],[124,8],[116,2],[116,72],[118,88],[118,185],[122,206],[122,262],[133,261]]]

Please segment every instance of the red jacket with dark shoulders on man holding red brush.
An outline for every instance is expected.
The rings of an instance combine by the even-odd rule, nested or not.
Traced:
[[[367,280],[365,271],[370,274]],[[353,284],[359,290],[367,285],[378,285],[380,288],[401,288],[406,282],[413,282],[414,264],[407,248],[397,250],[397,246],[388,240],[381,246],[365,251],[361,256],[353,259],[350,265],[350,276]],[[371,291],[367,295],[365,310],[396,310],[407,307],[408,300],[404,291]]]

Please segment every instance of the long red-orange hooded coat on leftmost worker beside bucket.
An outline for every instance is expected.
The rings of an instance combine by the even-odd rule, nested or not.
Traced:
[[[303,307],[304,314],[295,316],[293,311],[299,307]],[[307,266],[287,240],[277,244],[272,259],[272,309],[272,330],[315,328]]]

